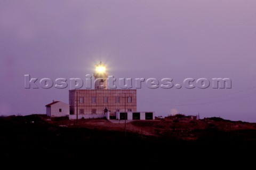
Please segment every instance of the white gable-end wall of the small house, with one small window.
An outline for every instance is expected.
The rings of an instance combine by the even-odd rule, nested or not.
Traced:
[[[61,112],[59,112],[61,109]],[[69,115],[69,104],[58,102],[51,106],[51,117],[62,117]]]

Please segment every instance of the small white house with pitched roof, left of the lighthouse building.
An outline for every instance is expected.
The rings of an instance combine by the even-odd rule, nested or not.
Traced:
[[[46,115],[50,117],[63,117],[69,115],[69,104],[61,101],[53,101],[46,106]]]

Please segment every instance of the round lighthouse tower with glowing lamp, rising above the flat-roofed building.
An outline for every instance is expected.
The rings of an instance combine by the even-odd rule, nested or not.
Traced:
[[[103,63],[99,63],[95,66],[94,76],[94,89],[95,90],[107,90],[108,89],[108,73],[106,66]]]

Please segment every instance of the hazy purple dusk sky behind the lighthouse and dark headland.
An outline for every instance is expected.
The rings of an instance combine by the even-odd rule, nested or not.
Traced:
[[[0,1],[0,115],[44,114],[66,89],[25,89],[24,75],[231,78],[231,89],[137,91],[138,111],[256,122],[256,1]]]

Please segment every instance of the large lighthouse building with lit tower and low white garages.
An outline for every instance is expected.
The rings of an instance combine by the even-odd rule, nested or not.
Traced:
[[[137,112],[137,90],[108,89],[106,66],[95,67],[94,89],[70,90],[70,119],[154,119],[154,112]]]

